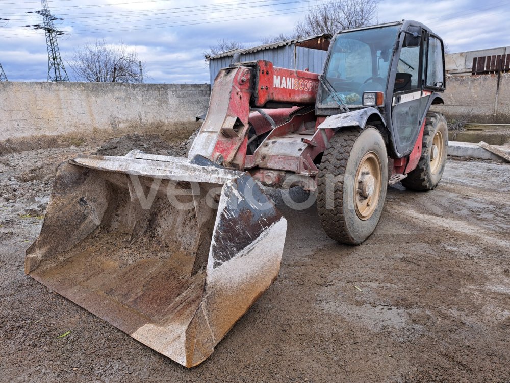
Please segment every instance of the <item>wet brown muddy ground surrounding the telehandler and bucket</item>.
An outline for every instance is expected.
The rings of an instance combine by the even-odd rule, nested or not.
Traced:
[[[355,247],[324,234],[315,206],[268,190],[289,223],[279,277],[186,369],[23,272],[58,163],[133,142],[0,156],[0,381],[510,381],[510,164],[450,159],[432,192],[390,187]]]

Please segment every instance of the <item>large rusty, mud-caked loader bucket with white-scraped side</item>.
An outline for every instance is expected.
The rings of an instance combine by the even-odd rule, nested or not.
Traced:
[[[80,156],[58,169],[25,272],[192,367],[274,281],[286,227],[247,173],[203,157]]]

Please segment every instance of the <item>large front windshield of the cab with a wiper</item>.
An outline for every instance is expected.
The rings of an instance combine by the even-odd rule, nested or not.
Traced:
[[[337,36],[324,75],[346,105],[361,106],[363,92],[385,91],[399,30],[400,25],[395,25]],[[321,90],[320,106],[338,107],[330,92]]]

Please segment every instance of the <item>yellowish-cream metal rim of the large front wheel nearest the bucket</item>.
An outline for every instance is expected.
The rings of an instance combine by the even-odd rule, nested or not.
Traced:
[[[382,182],[381,163],[374,152],[368,152],[362,158],[354,182],[356,214],[360,219],[368,220],[377,208]]]

